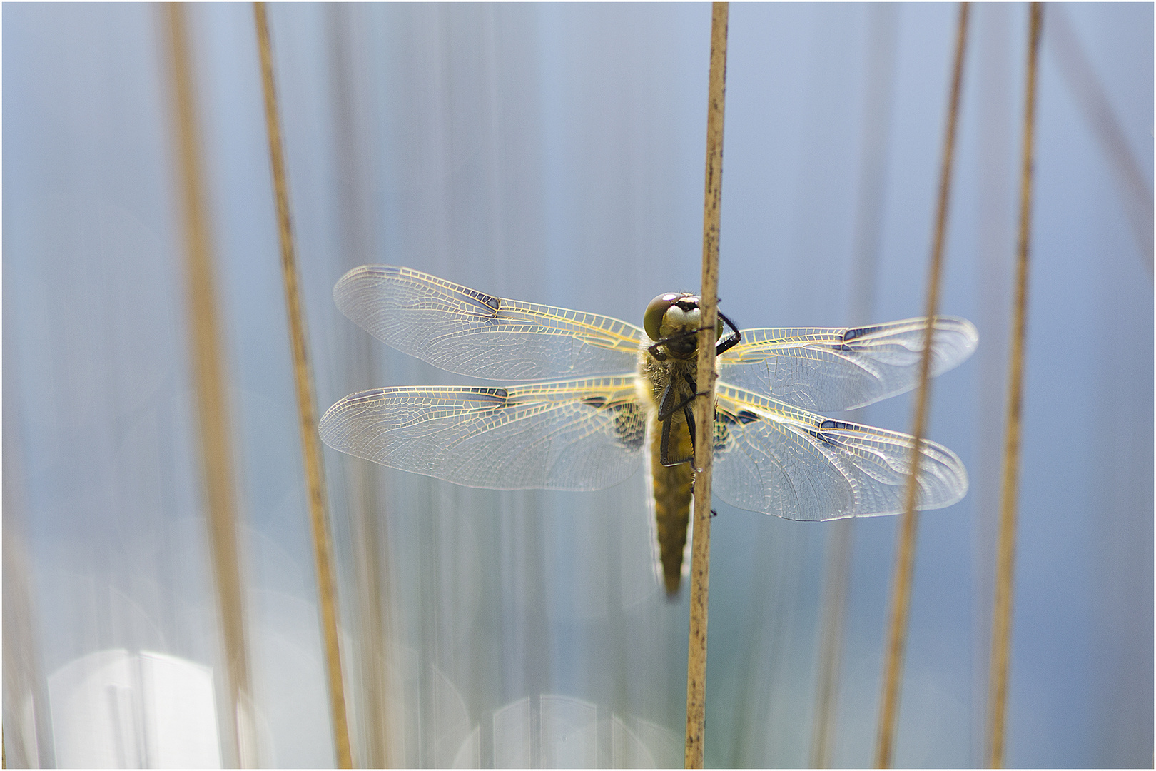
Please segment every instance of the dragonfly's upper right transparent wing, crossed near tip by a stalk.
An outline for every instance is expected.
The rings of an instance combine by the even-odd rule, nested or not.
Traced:
[[[964,362],[979,342],[966,319],[940,316],[932,376]],[[919,379],[924,319],[829,329],[743,329],[719,357],[719,377],[803,409],[854,409],[910,391]]]

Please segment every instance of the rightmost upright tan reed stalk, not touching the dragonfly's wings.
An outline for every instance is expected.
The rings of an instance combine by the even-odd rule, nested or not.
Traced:
[[[1023,349],[1028,324],[1028,246],[1031,237],[1031,183],[1035,162],[1036,80],[1044,8],[1031,3],[1028,29],[1028,83],[1023,111],[1023,163],[1020,177],[1020,238],[1017,242],[1015,298],[1011,313],[1011,350],[1008,361],[1007,435],[1003,444],[1003,482],[1000,501],[1000,540],[995,550],[995,607],[992,617],[991,685],[987,696],[988,766],[1003,768],[1005,709],[1008,695],[1008,648],[1011,638],[1011,590],[1015,570],[1016,497],[1020,484],[1020,439],[1023,417]]]

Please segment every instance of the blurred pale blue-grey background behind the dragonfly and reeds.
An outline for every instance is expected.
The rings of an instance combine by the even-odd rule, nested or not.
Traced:
[[[731,8],[722,309],[920,316],[955,5]],[[334,763],[252,8],[187,9],[227,353],[251,757]],[[333,305],[362,264],[640,323],[699,281],[710,7],[269,8],[319,409],[468,383]],[[895,764],[986,763],[1028,10],[973,8]],[[218,765],[228,737],[169,46],[148,5],[3,8],[3,742]],[[1007,764],[1153,762],[1153,6],[1045,12]],[[1113,128],[1114,127],[1114,128]],[[910,394],[855,418],[910,430]],[[454,487],[325,450],[360,765],[681,765],[688,592],[640,474]],[[806,766],[832,528],[716,502],[706,762]],[[835,765],[872,762],[897,518],[857,521]]]

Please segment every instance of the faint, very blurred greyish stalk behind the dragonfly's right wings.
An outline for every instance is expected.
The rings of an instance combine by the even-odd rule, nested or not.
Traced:
[[[879,249],[883,222],[887,178],[888,136],[895,91],[895,49],[898,36],[898,8],[894,3],[873,3],[867,8],[866,95],[864,98],[862,148],[857,193],[855,240],[852,257],[854,288],[847,309],[849,326],[869,324],[875,307]],[[850,415],[861,421],[862,410]],[[815,684],[815,718],[812,724],[810,764],[825,769],[831,764],[836,713],[839,703],[839,668],[843,653],[844,617],[850,581],[855,520],[839,519],[827,528],[827,559],[823,581],[822,627],[820,628],[818,677]]]

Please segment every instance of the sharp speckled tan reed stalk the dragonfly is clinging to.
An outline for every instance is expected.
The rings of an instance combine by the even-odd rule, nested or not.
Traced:
[[[703,288],[698,329],[699,393],[695,400],[695,521],[690,556],[690,636],[687,652],[687,748],[684,765],[703,768],[706,725],[706,606],[711,570],[711,461],[714,454],[714,342],[719,289],[719,214],[722,193],[722,117],[726,101],[728,5],[711,13],[711,71],[706,103],[706,192],[703,210]]]

